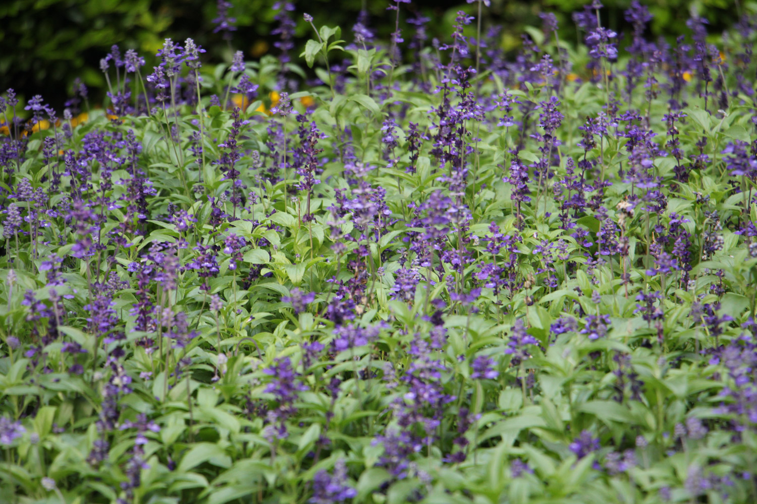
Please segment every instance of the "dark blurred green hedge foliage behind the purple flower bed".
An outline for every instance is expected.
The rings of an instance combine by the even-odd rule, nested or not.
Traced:
[[[604,0],[608,26],[621,32],[625,27],[623,11],[631,0]],[[316,26],[341,26],[344,39],[357,14],[365,8],[370,14],[370,28],[388,38],[394,29],[393,14],[386,11],[387,0],[308,0],[293,2],[297,11],[298,49],[311,36],[302,20],[304,11],[313,15]],[[501,24],[501,43],[516,51],[525,26],[540,26],[540,11],[556,14],[565,40],[577,40],[571,14],[587,0],[491,0],[484,8],[483,26]],[[717,34],[737,20],[740,5],[728,0],[659,0],[646,3],[654,19],[651,35],[674,36],[687,32],[685,20],[698,14],[710,21],[710,32]],[[104,96],[104,79],[98,63],[117,44],[122,51],[135,48],[151,63],[151,56],[170,37],[183,41],[192,37],[207,49],[206,60],[230,61],[232,48],[245,51],[249,60],[273,52],[276,26],[273,17],[275,0],[232,0],[229,15],[236,18],[238,30],[225,40],[213,33],[217,16],[214,0],[0,0],[0,89],[15,88],[21,97],[42,94],[48,103],[60,109],[70,95],[73,79],[79,77],[91,89],[94,103]],[[456,11],[475,14],[477,5],[460,0],[413,0],[403,4],[407,12],[430,17],[430,37],[446,39]],[[406,26],[407,28],[407,26]]]

